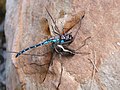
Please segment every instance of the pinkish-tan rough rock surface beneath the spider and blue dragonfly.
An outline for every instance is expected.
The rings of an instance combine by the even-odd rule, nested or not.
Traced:
[[[5,33],[9,51],[20,51],[45,40],[45,34],[49,34],[46,30],[51,30],[52,25],[45,7],[60,29],[67,19],[85,11],[81,28],[70,47],[77,49],[91,36],[78,50],[90,54],[62,57],[61,60],[56,55],[44,83],[41,83],[43,69],[38,64],[48,62],[49,53],[42,57],[26,55],[19,58],[8,54],[7,89],[56,90],[62,62],[59,90],[119,90],[120,0],[7,0]],[[76,24],[71,29],[73,34],[78,27]],[[46,50],[43,46],[28,53],[41,54]]]

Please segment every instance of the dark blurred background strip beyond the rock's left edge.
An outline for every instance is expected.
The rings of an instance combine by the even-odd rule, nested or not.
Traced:
[[[5,19],[5,0],[0,0],[0,90],[6,90],[6,57],[5,57],[5,35],[4,35],[4,19]]]

